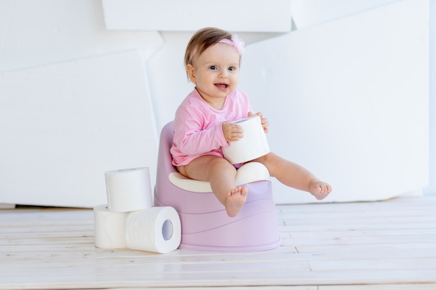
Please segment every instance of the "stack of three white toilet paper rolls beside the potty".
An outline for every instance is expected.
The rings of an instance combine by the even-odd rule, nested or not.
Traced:
[[[104,173],[108,204],[94,207],[95,246],[166,253],[181,240],[178,213],[153,207],[148,168]]]

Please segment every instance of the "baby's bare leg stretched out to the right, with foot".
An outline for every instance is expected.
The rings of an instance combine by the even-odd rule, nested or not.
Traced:
[[[332,187],[329,184],[320,181],[309,170],[274,153],[269,153],[255,161],[263,163],[268,168],[270,175],[276,177],[282,184],[307,191],[317,200],[326,198],[332,192]]]

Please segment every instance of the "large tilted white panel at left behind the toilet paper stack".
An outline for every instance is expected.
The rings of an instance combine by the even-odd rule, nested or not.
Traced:
[[[1,202],[92,207],[107,203],[105,171],[155,167],[142,51],[3,72],[0,81]]]

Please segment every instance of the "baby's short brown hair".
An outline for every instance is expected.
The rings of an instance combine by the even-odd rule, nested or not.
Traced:
[[[194,58],[194,55],[203,54],[203,51],[208,49],[208,47],[217,44],[219,40],[223,40],[224,38],[231,40],[231,33],[214,27],[206,27],[196,31],[186,47],[185,67],[192,64],[192,58]]]

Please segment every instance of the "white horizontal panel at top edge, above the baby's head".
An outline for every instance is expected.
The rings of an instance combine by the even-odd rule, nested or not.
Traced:
[[[196,31],[216,26],[232,31],[290,31],[290,1],[221,0],[211,10],[210,2],[160,0],[150,5],[142,0],[102,0],[107,29],[151,31]],[[259,21],[262,19],[262,21]]]

